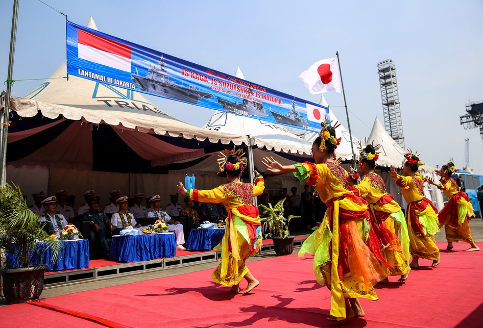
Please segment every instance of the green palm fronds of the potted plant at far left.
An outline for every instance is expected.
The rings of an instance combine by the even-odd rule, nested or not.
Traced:
[[[38,241],[45,243],[39,247]],[[33,252],[40,254],[43,247],[52,248],[55,262],[62,247],[60,241],[40,228],[37,215],[29,209],[20,188],[13,183],[0,188],[0,245],[6,254],[4,269],[29,267]]]

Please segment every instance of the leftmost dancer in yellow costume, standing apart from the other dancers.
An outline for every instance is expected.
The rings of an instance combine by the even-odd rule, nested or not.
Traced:
[[[240,154],[240,149],[236,152],[225,150],[220,153],[219,172],[226,172],[229,183],[212,190],[186,190],[180,182],[178,189],[190,199],[225,205],[228,210],[225,236],[220,245],[216,246],[221,246],[222,262],[211,276],[215,283],[232,286],[233,293],[240,291],[239,283],[245,278],[248,286],[243,294],[246,294],[260,284],[248,270],[245,261],[257,253],[262,243],[260,217],[258,208],[252,204],[252,197],[263,192],[264,180],[257,171],[254,171],[256,186],[242,183],[241,172],[247,163],[247,158],[242,157],[245,153]]]

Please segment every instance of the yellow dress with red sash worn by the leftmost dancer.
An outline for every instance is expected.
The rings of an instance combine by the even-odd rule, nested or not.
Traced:
[[[188,189],[186,193],[193,200],[223,203],[228,210],[225,236],[220,243],[222,262],[211,274],[215,283],[238,285],[249,271],[245,261],[260,248],[260,217],[258,208],[252,204],[252,197],[265,189],[261,175],[256,176],[255,184],[231,182],[212,190]]]

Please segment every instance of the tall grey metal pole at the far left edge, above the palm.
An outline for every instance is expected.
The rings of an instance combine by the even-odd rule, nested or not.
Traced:
[[[12,14],[12,32],[10,34],[10,54],[8,59],[8,74],[7,74],[7,96],[5,97],[5,108],[0,120],[0,131],[2,134],[2,166],[0,167],[0,179],[2,187],[5,187],[7,180],[7,133],[8,133],[8,116],[10,112],[10,94],[12,93],[12,72],[13,72],[13,57],[15,54],[15,37],[17,32],[17,16],[18,16],[18,0],[13,1]]]

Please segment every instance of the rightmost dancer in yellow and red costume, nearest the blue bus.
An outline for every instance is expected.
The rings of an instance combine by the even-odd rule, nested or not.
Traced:
[[[471,238],[470,225],[468,224],[473,213],[473,206],[468,199],[466,192],[461,191],[456,181],[451,178],[451,174],[456,170],[454,163],[451,161],[440,170],[436,170],[436,174],[441,176],[441,184],[437,185],[431,179],[428,182],[443,190],[444,194],[449,198],[448,203],[438,214],[440,228],[444,225],[446,240],[448,246],[446,249],[453,248],[453,242],[464,241],[471,245],[467,251],[479,250],[478,246]]]

